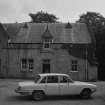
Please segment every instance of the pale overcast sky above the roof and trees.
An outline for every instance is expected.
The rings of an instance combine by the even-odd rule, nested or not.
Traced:
[[[29,13],[41,10],[56,15],[61,22],[75,22],[88,11],[105,17],[105,0],[0,0],[0,22],[30,21]]]

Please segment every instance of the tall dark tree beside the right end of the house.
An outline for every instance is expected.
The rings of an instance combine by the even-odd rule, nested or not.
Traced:
[[[96,40],[95,55],[99,63],[98,69],[102,71],[102,74],[105,74],[105,18],[99,13],[87,12],[82,14],[77,22],[86,23],[92,30]]]

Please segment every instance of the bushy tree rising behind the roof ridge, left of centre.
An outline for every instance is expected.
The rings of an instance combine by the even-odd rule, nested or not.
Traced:
[[[36,14],[30,13],[29,16],[31,17],[33,23],[56,23],[57,17],[53,14],[45,13],[43,11],[39,11]]]

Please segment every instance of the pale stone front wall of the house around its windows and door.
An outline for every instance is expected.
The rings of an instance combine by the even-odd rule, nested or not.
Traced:
[[[78,51],[77,51],[78,53]],[[42,73],[42,61],[43,59],[50,59],[50,72],[52,73],[67,73],[71,76],[73,80],[96,80],[97,79],[97,68],[96,66],[91,66],[87,60],[76,58],[66,50],[61,49],[61,45],[57,44],[49,50],[41,50],[39,48],[31,49],[16,49],[10,48],[3,52],[2,56],[3,65],[2,66],[2,76],[14,77],[14,78],[31,78],[38,73]],[[7,56],[5,56],[7,55]],[[7,59],[8,57],[8,59]],[[5,58],[5,59],[4,59]],[[21,70],[21,59],[22,58],[33,58],[34,59],[34,69],[32,71]],[[72,60],[78,61],[78,70],[71,70]],[[88,73],[88,74],[87,74]]]

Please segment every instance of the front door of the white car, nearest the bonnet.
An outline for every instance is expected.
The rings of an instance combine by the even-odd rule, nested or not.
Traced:
[[[74,94],[75,87],[68,76],[60,76],[59,81],[60,95],[71,95]]]

